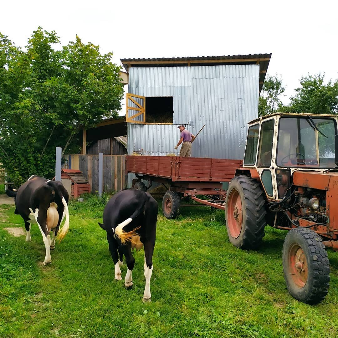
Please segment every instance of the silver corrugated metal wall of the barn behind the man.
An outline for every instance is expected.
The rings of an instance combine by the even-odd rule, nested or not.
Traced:
[[[259,65],[129,68],[128,92],[173,97],[173,124],[128,123],[128,154],[179,153],[177,126],[196,135],[192,156],[242,159],[258,114]]]

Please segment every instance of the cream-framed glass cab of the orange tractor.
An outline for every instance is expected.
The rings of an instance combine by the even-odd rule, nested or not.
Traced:
[[[281,200],[293,172],[338,169],[336,135],[337,115],[274,113],[255,119],[249,122],[243,169],[257,170],[268,199]]]

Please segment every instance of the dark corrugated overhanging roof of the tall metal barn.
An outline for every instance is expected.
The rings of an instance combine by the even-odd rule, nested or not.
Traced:
[[[160,58],[125,58],[120,59],[128,72],[130,67],[177,67],[177,66],[215,66],[215,65],[259,65],[259,92],[263,87],[271,53],[222,56],[186,56]]]

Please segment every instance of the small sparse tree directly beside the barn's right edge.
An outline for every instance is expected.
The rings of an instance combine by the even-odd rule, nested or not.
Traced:
[[[258,115],[272,114],[283,106],[280,96],[284,91],[285,87],[282,85],[281,77],[267,76],[258,102]]]

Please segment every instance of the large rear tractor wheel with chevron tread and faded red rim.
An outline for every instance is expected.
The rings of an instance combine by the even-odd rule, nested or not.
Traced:
[[[265,235],[265,215],[260,183],[246,175],[233,178],[227,190],[225,207],[230,242],[241,249],[257,249]]]

